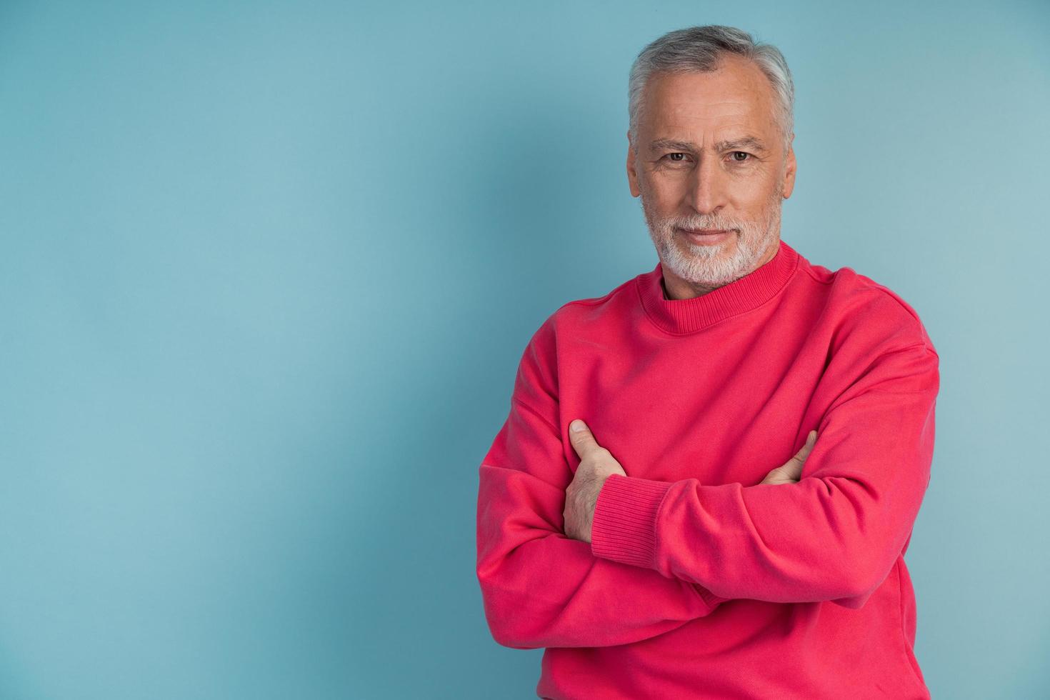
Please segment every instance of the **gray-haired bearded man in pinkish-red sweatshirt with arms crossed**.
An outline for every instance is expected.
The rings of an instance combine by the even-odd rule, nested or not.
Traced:
[[[629,100],[659,262],[521,358],[479,473],[494,637],[547,648],[543,698],[928,698],[903,557],[937,351],[894,292],[780,239],[780,51],[671,31]]]

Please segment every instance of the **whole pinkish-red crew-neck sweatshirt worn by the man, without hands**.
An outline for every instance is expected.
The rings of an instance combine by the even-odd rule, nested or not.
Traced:
[[[566,303],[521,359],[480,467],[496,641],[547,648],[543,698],[928,698],[904,565],[938,355],[915,311],[785,242],[668,300],[662,268]],[[565,536],[582,419],[627,476]],[[810,430],[797,484],[760,484]]]

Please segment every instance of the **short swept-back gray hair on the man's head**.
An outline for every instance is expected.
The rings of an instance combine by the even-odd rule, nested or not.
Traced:
[[[628,83],[631,145],[638,148],[638,111],[642,93],[649,78],[656,72],[709,72],[718,68],[726,54],[735,54],[754,61],[773,86],[776,94],[774,115],[784,136],[784,151],[791,144],[794,129],[795,84],[788,62],[776,46],[756,43],[742,29],[720,24],[693,26],[668,31],[638,54],[631,66]]]

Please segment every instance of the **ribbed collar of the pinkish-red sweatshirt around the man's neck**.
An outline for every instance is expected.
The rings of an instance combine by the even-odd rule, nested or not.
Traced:
[[[762,267],[692,299],[664,298],[664,270],[659,262],[652,272],[635,279],[642,305],[653,323],[668,333],[687,334],[765,303],[788,283],[798,260],[798,252],[781,240],[777,254]]]

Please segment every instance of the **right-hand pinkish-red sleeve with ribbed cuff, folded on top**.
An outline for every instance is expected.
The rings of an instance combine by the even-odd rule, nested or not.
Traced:
[[[876,358],[821,418],[797,484],[610,476],[594,554],[726,598],[861,607],[905,547],[929,483],[938,359],[926,343]]]

